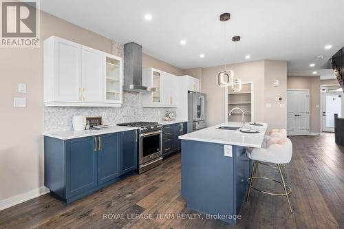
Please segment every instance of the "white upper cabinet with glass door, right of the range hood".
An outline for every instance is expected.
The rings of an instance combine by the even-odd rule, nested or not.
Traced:
[[[143,107],[178,107],[178,76],[149,67],[142,71],[142,85],[155,88],[142,94]]]

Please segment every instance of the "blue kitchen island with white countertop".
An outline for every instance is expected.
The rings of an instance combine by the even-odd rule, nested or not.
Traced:
[[[252,167],[245,147],[261,147],[267,124],[242,133],[240,122],[226,122],[182,135],[182,197],[187,208],[232,225],[239,219]]]

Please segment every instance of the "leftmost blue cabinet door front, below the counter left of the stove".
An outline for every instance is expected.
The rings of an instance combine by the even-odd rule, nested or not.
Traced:
[[[94,139],[80,138],[66,144],[66,198],[97,186]]]

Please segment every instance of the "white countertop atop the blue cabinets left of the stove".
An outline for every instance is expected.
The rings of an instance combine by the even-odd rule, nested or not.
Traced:
[[[51,133],[43,133],[43,135],[51,138],[58,138],[61,140],[69,140],[74,138],[84,138],[94,135],[101,135],[106,133],[116,133],[122,131],[133,131],[138,129],[137,127],[109,127],[108,129],[103,130],[85,130],[85,131],[58,131],[58,132],[51,132]]]

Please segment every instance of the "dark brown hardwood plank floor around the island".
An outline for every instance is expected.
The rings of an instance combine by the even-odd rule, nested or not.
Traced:
[[[333,134],[290,139],[294,152],[286,171],[294,214],[285,197],[252,191],[237,228],[344,228],[344,148],[334,144]],[[128,219],[127,214],[197,213],[180,197],[180,167],[180,154],[173,155],[147,173],[68,206],[49,194],[31,199],[0,211],[0,228],[232,228],[217,219]],[[258,173],[279,177],[266,166]],[[256,185],[281,190],[275,184]],[[103,219],[121,213],[123,219]]]

